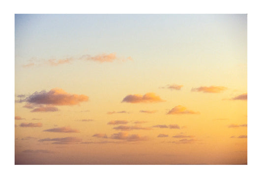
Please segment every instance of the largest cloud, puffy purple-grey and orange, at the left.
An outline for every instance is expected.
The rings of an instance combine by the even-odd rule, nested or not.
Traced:
[[[20,102],[27,102],[34,105],[53,105],[53,106],[71,106],[79,105],[81,102],[87,102],[88,96],[69,94],[63,89],[54,88],[49,92],[43,90],[34,92]]]

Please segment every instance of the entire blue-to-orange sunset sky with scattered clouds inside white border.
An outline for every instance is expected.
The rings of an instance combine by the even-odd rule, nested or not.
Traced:
[[[16,14],[15,164],[247,164],[247,15]]]

